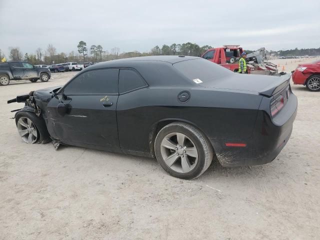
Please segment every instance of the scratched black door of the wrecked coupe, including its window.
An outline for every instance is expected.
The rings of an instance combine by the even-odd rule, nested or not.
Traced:
[[[48,131],[66,143],[117,148],[117,99],[118,69],[85,71],[48,103]],[[57,112],[59,103],[68,109],[63,116]]]

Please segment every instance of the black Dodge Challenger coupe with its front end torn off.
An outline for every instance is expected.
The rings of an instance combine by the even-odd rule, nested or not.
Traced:
[[[222,166],[272,161],[297,110],[290,75],[237,74],[199,57],[147,56],[91,65],[64,86],[19,95],[27,143],[76,145],[156,157],[195,178]]]

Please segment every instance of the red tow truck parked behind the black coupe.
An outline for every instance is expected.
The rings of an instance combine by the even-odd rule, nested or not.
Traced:
[[[205,51],[201,57],[224,66],[231,71],[238,71],[239,59],[243,52],[239,45],[223,45],[223,47],[215,47]],[[258,50],[246,55],[247,72],[251,74],[263,75],[283,75],[284,72],[278,73],[276,64],[264,62],[265,48],[261,47]]]

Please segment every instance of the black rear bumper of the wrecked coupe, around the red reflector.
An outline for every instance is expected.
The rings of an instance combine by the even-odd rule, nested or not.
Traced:
[[[209,139],[222,166],[260,165],[272,161],[283,149],[292,132],[297,111],[297,98],[291,94],[281,111],[270,118],[258,111],[252,136],[248,139]],[[226,146],[242,143],[245,146]]]

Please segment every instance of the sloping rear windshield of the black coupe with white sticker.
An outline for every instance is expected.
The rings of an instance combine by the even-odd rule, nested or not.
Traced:
[[[232,71],[206,59],[180,61],[173,66],[195,83],[214,81]]]

